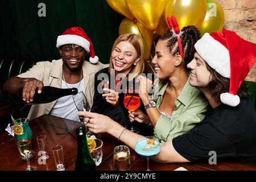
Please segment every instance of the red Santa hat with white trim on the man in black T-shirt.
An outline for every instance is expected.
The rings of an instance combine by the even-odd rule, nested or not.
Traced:
[[[229,92],[222,93],[221,102],[237,106],[237,91],[256,63],[256,44],[243,40],[234,31],[204,34],[195,44],[197,53],[220,75],[230,78]]]

